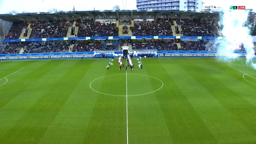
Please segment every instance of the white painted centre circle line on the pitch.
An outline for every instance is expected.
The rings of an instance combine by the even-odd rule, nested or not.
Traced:
[[[138,76],[147,76],[147,75],[140,75],[140,74],[116,74],[116,75],[109,75],[109,76],[118,76],[118,75],[138,75]],[[126,95],[108,94],[108,93],[103,93],[103,92],[99,92],[99,91],[94,90],[94,89],[92,88],[92,83],[93,83],[94,81],[96,81],[96,80],[98,80],[98,79],[101,79],[101,78],[104,78],[104,77],[108,77],[108,76],[99,77],[99,78],[93,80],[93,81],[90,83],[90,88],[91,88],[94,92],[98,92],[98,93],[105,94],[105,95],[111,95],[111,96],[126,96]],[[162,86],[161,86],[160,88],[158,88],[157,90],[152,91],[152,92],[147,92],[147,93],[137,94],[137,95],[127,95],[127,96],[140,96],[140,95],[145,95],[145,94],[153,93],[153,92],[156,92],[156,91],[160,90],[160,89],[164,86],[164,83],[163,83],[160,79],[158,79],[158,78],[156,78],[156,77],[153,77],[153,76],[148,76],[148,77],[151,77],[151,78],[154,78],[154,79],[160,81],[160,82],[162,83]],[[132,80],[132,81],[133,81],[133,82],[136,82],[136,80]],[[115,83],[115,82],[114,82],[114,83]],[[124,83],[125,83],[125,82],[124,82]],[[142,84],[141,84],[141,85],[142,85]]]

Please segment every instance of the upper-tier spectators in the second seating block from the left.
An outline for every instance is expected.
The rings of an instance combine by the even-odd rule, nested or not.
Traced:
[[[42,21],[31,21],[30,27],[33,29],[29,38],[58,38],[66,37],[68,27],[71,27],[73,23],[67,20],[57,20],[53,22]]]

